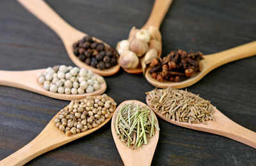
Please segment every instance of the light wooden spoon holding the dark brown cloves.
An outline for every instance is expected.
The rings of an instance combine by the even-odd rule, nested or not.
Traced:
[[[152,78],[152,75],[148,72],[150,68],[148,68],[145,77],[148,82],[156,87],[173,87],[176,89],[180,89],[183,87],[188,87],[200,79],[202,79],[207,73],[211,72],[215,68],[219,66],[230,63],[232,61],[236,61],[238,59],[243,59],[245,57],[255,56],[256,55],[256,41],[252,41],[251,43],[247,43],[238,47],[234,47],[233,49],[225,50],[222,52],[218,52],[216,54],[210,54],[204,56],[204,59],[200,61],[201,71],[195,73],[193,77],[186,79],[182,82],[158,82],[156,79]]]

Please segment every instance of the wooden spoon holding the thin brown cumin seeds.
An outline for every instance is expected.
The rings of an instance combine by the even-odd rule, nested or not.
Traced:
[[[228,137],[229,139],[236,140],[253,148],[256,148],[256,133],[240,126],[234,121],[230,120],[227,116],[222,114],[220,110],[216,109],[213,105],[211,105],[212,109],[214,109],[214,117],[215,121],[206,121],[206,124],[189,124],[179,121],[173,121],[172,119],[167,119],[164,116],[161,116],[154,107],[150,106],[147,96],[147,104],[148,106],[154,110],[157,116],[161,117],[165,121],[169,123],[176,124],[178,126],[182,126],[185,128],[191,128],[193,130],[199,130],[202,132],[214,133],[216,135],[221,135],[223,137]]]

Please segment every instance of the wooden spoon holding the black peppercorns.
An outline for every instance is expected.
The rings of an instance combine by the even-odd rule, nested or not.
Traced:
[[[74,42],[81,40],[84,36],[88,34],[82,33],[78,31],[74,27],[70,26],[65,20],[61,19],[61,17],[51,9],[51,7],[46,4],[42,0],[18,0],[20,4],[22,4],[27,10],[33,13],[38,19],[42,20],[47,26],[51,27],[53,31],[55,31],[63,41],[65,48],[68,52],[68,56],[70,59],[80,68],[86,68],[87,70],[92,70],[93,73],[97,73],[102,76],[113,75],[120,69],[120,65],[116,64],[109,69],[99,70],[97,68],[93,68],[92,66],[87,65],[86,63],[79,61],[78,57],[76,57],[73,53],[72,45]],[[97,38],[93,38],[98,42],[104,43],[107,47],[109,45]]]

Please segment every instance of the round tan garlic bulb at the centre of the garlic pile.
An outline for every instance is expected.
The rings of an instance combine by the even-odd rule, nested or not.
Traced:
[[[136,39],[131,42],[130,50],[141,57],[148,51],[148,44],[143,40]]]

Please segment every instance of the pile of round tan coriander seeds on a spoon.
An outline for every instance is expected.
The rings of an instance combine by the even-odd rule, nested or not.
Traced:
[[[54,123],[67,136],[85,132],[96,128],[111,117],[115,106],[116,103],[110,100],[106,94],[72,100],[65,109],[61,109],[54,119]]]

